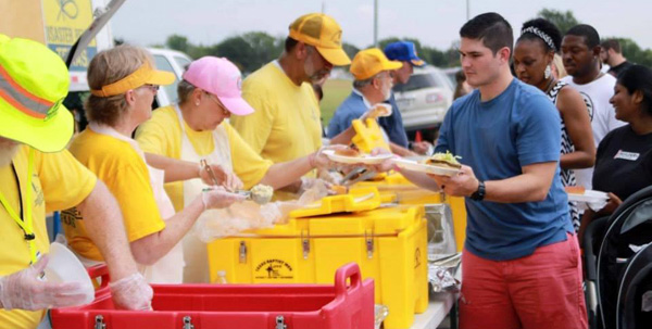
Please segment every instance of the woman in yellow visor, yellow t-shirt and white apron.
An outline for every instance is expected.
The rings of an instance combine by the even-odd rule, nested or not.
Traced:
[[[159,85],[173,81],[171,73],[155,69],[145,49],[123,45],[98,53],[88,67],[91,94],[85,110],[89,125],[70,147],[118,201],[131,253],[142,265],[146,279],[155,283],[181,282],[179,241],[204,210],[243,200],[220,188],[211,189],[175,214],[163,189],[164,180],[196,178],[203,170],[197,163],[180,161],[170,173],[150,167],[130,138],[136,127],[151,117]],[[64,212],[63,218],[68,244],[79,258],[86,265],[102,262],[76,208]]]

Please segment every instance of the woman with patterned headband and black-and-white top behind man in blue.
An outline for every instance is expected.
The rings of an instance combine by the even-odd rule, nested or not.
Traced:
[[[514,47],[514,72],[519,80],[543,91],[560,111],[562,121],[561,178],[564,186],[576,186],[573,169],[591,167],[595,161],[595,145],[591,121],[584,99],[575,89],[552,74],[555,53],[562,35],[554,24],[536,18],[523,24],[521,37]],[[577,231],[579,213],[570,203],[570,219]]]

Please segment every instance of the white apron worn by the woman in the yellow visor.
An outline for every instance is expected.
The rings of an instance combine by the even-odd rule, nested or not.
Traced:
[[[92,123],[89,124],[88,127],[97,134],[111,136],[128,142],[131,145],[131,148],[134,148],[134,150],[136,150],[136,152],[140,154],[142,161],[147,164],[147,161],[145,160],[145,153],[142,152],[142,150],[140,150],[138,143],[135,140],[121,135],[111,127],[100,126]],[[167,193],[165,193],[165,190],[163,189],[163,185],[165,182],[165,172],[156,169],[149,165],[147,166],[147,168],[150,176],[152,191],[154,192],[156,206],[159,207],[159,212],[161,213],[161,218],[163,218],[163,220],[167,220],[172,216],[174,216],[175,211],[174,206],[172,205],[172,201],[170,200]],[[98,264],[98,262],[84,258],[82,258],[82,263],[85,266],[92,266],[95,264]],[[181,283],[184,278],[183,268],[184,251],[180,242],[173,246],[166,255],[161,257],[153,265],[139,265],[140,273],[149,283]]]

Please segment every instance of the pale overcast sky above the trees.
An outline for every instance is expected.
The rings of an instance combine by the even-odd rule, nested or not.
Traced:
[[[629,37],[652,48],[650,0],[468,0],[471,16],[494,11],[515,30],[542,8],[570,10],[601,37]],[[213,45],[246,31],[287,36],[288,25],[302,14],[335,17],[342,39],[359,48],[373,43],[374,0],[127,0],[111,21],[113,35],[140,46],[164,43],[178,34],[193,43]],[[466,22],[465,0],[378,0],[378,38],[416,38],[448,49]]]

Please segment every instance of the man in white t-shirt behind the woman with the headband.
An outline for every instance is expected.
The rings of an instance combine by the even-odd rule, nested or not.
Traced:
[[[593,130],[595,148],[604,136],[625,123],[617,121],[609,99],[614,94],[616,78],[600,72],[600,36],[590,25],[572,27],[562,40],[562,58],[568,75],[562,81],[582,96]],[[591,189],[593,168],[576,169],[577,185]]]

